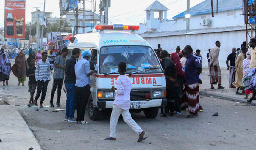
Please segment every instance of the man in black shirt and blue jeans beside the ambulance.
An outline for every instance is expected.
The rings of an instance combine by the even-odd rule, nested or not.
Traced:
[[[74,118],[75,113],[75,95],[76,95],[76,75],[75,75],[75,64],[77,58],[80,55],[80,49],[74,48],[72,50],[72,56],[66,60],[66,77],[64,84],[67,90],[67,100],[66,100],[66,117],[65,121],[77,122]]]

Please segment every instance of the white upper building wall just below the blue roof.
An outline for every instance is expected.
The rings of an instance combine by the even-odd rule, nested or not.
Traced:
[[[203,14],[191,16],[190,18],[190,29],[208,29],[208,28],[223,28],[229,26],[243,26],[244,25],[244,16],[242,14],[242,9],[240,10],[232,10],[226,12],[219,12],[218,14],[214,14],[212,17],[211,14]],[[210,19],[211,26],[203,26],[204,19]],[[149,22],[148,22],[149,21]],[[147,25],[140,25],[140,29],[136,32],[138,34],[142,34],[149,30],[150,20],[147,20]],[[157,26],[154,24],[154,26]],[[178,18],[177,21],[169,21],[159,23],[159,26],[155,32],[166,32],[166,31],[178,31],[186,29],[186,20],[184,18]]]

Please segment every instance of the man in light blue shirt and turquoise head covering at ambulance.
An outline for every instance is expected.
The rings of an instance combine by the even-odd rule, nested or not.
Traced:
[[[82,58],[75,64],[76,73],[76,100],[77,100],[77,124],[89,124],[84,120],[85,107],[90,96],[90,75],[96,70],[90,72],[89,50],[82,51]]]

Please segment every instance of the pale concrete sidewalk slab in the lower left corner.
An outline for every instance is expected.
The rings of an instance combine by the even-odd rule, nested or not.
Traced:
[[[15,106],[0,105],[0,126],[1,150],[42,150]]]

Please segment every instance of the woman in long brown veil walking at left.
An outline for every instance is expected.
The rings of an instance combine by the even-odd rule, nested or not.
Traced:
[[[20,52],[18,56],[15,59],[15,64],[12,67],[13,74],[18,78],[18,86],[20,83],[22,83],[22,86],[24,85],[24,82],[26,81],[26,70],[28,69],[28,63],[26,61],[25,55]]]

